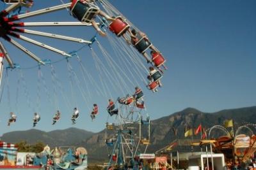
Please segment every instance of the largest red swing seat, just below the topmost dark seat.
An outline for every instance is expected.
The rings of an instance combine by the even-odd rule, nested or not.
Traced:
[[[122,17],[116,17],[115,20],[109,24],[109,30],[118,37],[122,36],[129,27],[130,25]]]

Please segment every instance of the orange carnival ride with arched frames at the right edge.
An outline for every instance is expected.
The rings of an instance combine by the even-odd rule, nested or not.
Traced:
[[[209,145],[210,154],[212,152],[223,153],[228,167],[250,162],[252,155],[256,152],[255,125],[253,124],[241,125],[235,133],[233,127],[231,131],[228,131],[221,125],[214,125],[207,131],[209,139],[193,145],[201,147]],[[217,134],[219,136],[216,136]]]

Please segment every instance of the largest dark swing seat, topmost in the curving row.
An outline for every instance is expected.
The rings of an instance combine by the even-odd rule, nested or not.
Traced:
[[[86,1],[73,0],[70,11],[79,21],[89,24],[95,15],[99,13],[99,7],[86,3]]]

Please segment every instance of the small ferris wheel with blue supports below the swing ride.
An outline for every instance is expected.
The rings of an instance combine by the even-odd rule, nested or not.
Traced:
[[[108,108],[105,129],[109,154],[107,169],[139,166],[140,153],[147,152],[150,145],[150,117],[142,97],[134,100],[127,96],[116,101],[118,108],[113,105]]]

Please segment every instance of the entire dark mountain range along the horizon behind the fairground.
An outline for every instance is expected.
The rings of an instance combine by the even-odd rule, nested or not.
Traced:
[[[148,153],[156,152],[169,145],[175,139],[184,139],[184,127],[209,128],[213,125],[223,125],[225,120],[234,120],[234,129],[244,124],[256,124],[256,106],[221,110],[215,113],[204,113],[195,108],[186,108],[167,117],[158,118],[150,122],[150,145]],[[173,133],[177,129],[177,136]],[[146,130],[142,132],[146,133]],[[220,134],[221,132],[216,132]],[[195,136],[194,138],[200,138]],[[69,128],[51,132],[31,129],[28,131],[15,131],[3,134],[1,140],[8,143],[17,143],[25,140],[28,143],[42,141],[49,146],[83,146],[88,150],[90,162],[108,161],[108,152],[105,144],[105,129],[93,133],[82,129]]]

